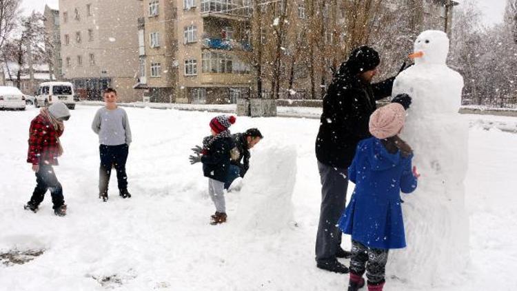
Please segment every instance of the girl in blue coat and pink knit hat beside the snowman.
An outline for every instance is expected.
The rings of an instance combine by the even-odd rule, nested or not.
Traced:
[[[400,192],[413,192],[419,175],[412,149],[397,136],[404,122],[401,104],[376,110],[369,119],[373,137],[359,142],[348,169],[356,188],[339,220],[343,233],[352,235],[348,291],[365,285],[365,271],[368,290],[383,290],[388,250],[406,246]]]

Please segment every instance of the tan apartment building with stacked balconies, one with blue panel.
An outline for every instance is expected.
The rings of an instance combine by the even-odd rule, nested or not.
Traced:
[[[234,103],[253,83],[241,52],[250,50],[250,3],[144,0],[139,83],[151,101]],[[249,5],[248,5],[249,4]]]

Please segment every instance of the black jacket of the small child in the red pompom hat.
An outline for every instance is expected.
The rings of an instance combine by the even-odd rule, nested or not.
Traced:
[[[231,137],[216,139],[208,152],[201,156],[203,163],[203,174],[205,177],[225,182],[227,172],[230,169],[230,150],[234,148],[234,141]]]

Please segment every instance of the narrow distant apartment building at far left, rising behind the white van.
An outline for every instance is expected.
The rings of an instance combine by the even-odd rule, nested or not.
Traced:
[[[45,5],[43,25],[45,26],[45,50],[51,54],[49,70],[54,76],[63,79],[63,59],[61,59],[61,35],[59,26],[59,10]]]

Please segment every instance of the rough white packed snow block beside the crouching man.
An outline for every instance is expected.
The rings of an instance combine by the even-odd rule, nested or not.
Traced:
[[[296,148],[286,145],[257,149],[239,192],[232,221],[245,232],[273,234],[292,222],[292,194],[296,182]]]

